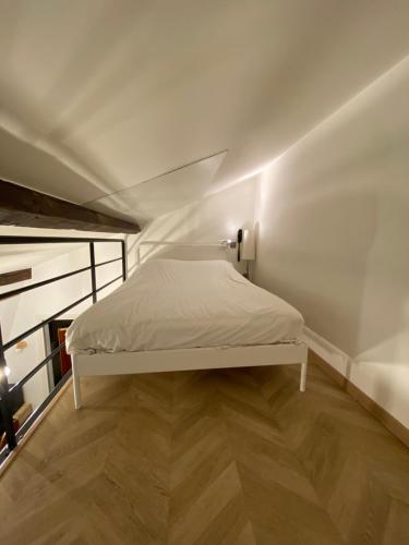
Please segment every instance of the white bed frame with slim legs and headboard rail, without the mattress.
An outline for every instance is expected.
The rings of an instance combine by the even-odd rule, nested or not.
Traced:
[[[140,246],[212,246],[220,244],[181,244],[168,241],[145,241],[140,243],[136,255],[141,263]],[[308,347],[304,342],[260,344],[250,347],[193,348],[179,350],[148,350],[141,352],[113,352],[72,356],[74,404],[80,409],[83,376],[129,375],[137,373],[160,373],[171,371],[194,371],[213,368],[255,367],[263,365],[301,365],[300,391],[305,391]]]

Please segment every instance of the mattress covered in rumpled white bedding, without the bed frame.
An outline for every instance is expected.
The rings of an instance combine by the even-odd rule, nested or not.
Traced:
[[[70,354],[293,342],[303,318],[222,261],[152,259],[68,330]]]

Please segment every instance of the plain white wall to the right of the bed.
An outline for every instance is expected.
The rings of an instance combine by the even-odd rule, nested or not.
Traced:
[[[256,282],[351,362],[334,365],[409,426],[409,58],[260,180]]]

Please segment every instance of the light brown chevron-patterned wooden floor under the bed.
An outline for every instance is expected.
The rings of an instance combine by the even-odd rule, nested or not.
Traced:
[[[313,365],[84,383],[1,477],[1,543],[409,544],[408,449]]]

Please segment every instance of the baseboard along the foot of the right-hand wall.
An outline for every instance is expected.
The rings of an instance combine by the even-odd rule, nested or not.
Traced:
[[[347,377],[349,356],[306,327],[304,335],[305,342],[310,348],[309,361],[327,373],[345,391],[409,448],[409,428]]]

